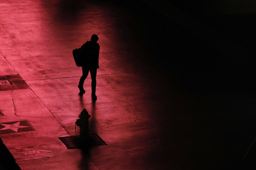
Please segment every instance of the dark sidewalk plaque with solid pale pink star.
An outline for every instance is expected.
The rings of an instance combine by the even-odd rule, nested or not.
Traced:
[[[35,131],[35,129],[27,120],[0,123],[0,134],[26,131]]]

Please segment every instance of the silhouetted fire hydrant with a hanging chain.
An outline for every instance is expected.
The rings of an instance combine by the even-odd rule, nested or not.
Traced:
[[[80,142],[88,142],[89,139],[89,118],[91,117],[90,114],[83,109],[81,114],[78,116],[80,119],[77,119],[75,122],[80,127]]]

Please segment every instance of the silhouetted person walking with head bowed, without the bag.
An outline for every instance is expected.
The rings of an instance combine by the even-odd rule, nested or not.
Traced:
[[[96,34],[91,36],[91,41],[86,41],[85,44],[81,46],[82,52],[84,53],[86,60],[82,66],[83,75],[80,78],[78,88],[81,93],[85,93],[83,89],[83,83],[88,76],[90,71],[91,73],[91,97],[93,100],[97,100],[96,92],[96,74],[97,69],[99,68],[99,40]]]

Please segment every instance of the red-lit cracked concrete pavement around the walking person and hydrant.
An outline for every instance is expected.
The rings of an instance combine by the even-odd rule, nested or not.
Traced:
[[[142,108],[151,107],[144,106],[142,101],[161,96],[155,92],[155,82],[151,80],[153,70],[137,60],[139,56],[134,55],[132,45],[122,40],[122,29],[127,26],[117,25],[122,10],[114,11],[107,3],[87,2],[79,11],[80,19],[70,24],[69,15],[64,13],[74,11],[62,9],[67,2],[62,7],[57,1],[24,3],[7,1],[4,4],[15,4],[17,8],[4,8],[0,13],[0,52],[4,61],[0,73],[19,74],[29,89],[0,91],[0,96],[4,96],[0,98],[0,108],[5,114],[0,122],[28,120],[35,131],[4,134],[1,138],[7,147],[46,144],[56,157],[19,161],[19,166],[22,169],[148,167],[151,158],[143,155],[151,155],[147,150],[152,148],[158,150],[156,143],[161,143],[161,138],[157,131],[166,126],[161,128],[162,123],[154,122],[154,116],[148,118],[153,113]],[[112,28],[116,31],[111,31]],[[101,48],[95,102],[91,99],[90,73],[84,83],[86,93],[78,94],[82,70],[72,56],[72,50],[94,33],[99,36]],[[91,148],[87,155],[79,149],[67,149],[59,140],[79,135],[74,122],[83,108],[91,115],[89,133],[97,133],[107,143]],[[154,136],[159,140],[153,139]],[[143,146],[146,141],[150,144]],[[100,159],[101,155],[104,158]],[[163,151],[158,160],[164,155]],[[113,159],[107,161],[108,157]]]

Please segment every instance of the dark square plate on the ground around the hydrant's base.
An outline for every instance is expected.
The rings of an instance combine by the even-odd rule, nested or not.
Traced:
[[[61,137],[61,141],[69,149],[79,148],[79,136]],[[87,144],[89,147],[107,145],[97,134],[90,134]]]

